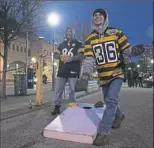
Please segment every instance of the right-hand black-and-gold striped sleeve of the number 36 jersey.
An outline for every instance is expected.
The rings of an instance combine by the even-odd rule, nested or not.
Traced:
[[[131,46],[130,43],[128,42],[128,38],[121,30],[118,31],[118,44],[120,51],[124,51],[125,49]]]

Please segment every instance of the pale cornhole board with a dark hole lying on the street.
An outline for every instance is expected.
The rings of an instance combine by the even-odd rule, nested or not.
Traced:
[[[78,103],[68,107],[44,128],[47,138],[92,144],[102,119],[105,105],[95,108],[93,104]]]

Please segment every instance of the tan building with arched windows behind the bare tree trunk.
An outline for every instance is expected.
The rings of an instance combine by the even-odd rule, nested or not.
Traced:
[[[26,40],[20,38],[18,40],[12,41],[8,50],[8,64],[7,64],[7,80],[13,81],[14,74],[17,71],[22,73],[25,72],[26,67]],[[28,65],[29,67],[32,64],[32,59],[36,58],[37,53],[45,53],[46,56],[43,58],[43,61],[46,63],[44,66],[43,74],[47,75],[48,80],[52,78],[52,51],[53,46],[47,43],[43,38],[33,40],[28,44]],[[4,45],[0,41],[0,52],[3,54]],[[0,81],[2,80],[2,71],[3,71],[3,59],[0,57]]]

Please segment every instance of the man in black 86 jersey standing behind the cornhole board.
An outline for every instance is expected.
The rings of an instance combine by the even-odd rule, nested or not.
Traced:
[[[76,101],[75,84],[80,74],[81,61],[83,59],[84,48],[82,43],[74,38],[73,30],[66,29],[66,37],[57,48],[54,58],[59,59],[59,68],[55,88],[55,108],[53,115],[60,113],[62,94],[68,82],[70,99]]]

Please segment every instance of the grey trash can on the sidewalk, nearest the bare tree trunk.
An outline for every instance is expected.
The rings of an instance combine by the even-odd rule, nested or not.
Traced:
[[[26,95],[26,75],[25,74],[14,74],[14,95]]]

